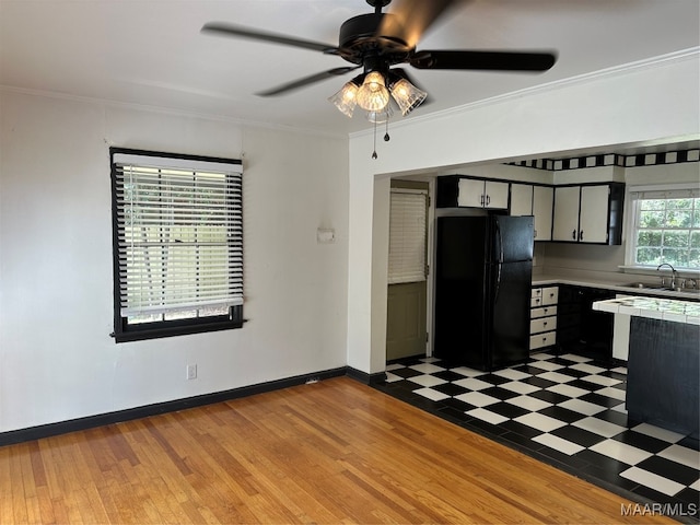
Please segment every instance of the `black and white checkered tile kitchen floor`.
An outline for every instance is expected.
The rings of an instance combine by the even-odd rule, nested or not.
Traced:
[[[434,358],[387,365],[376,388],[641,504],[698,521],[698,440],[628,419],[627,370],[574,354],[482,372]]]

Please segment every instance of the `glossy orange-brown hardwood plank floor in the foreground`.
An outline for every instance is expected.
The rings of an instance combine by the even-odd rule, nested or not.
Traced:
[[[0,523],[676,523],[347,377],[0,447]]]

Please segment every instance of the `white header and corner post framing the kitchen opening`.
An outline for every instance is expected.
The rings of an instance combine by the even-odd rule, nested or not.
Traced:
[[[444,166],[483,164],[548,153],[700,135],[700,69],[697,50],[625,71],[467,106],[436,118],[410,117],[394,126],[373,161],[371,133],[350,140],[350,242],[348,362],[368,373],[384,370],[386,265],[373,254],[373,235],[385,235],[368,202],[386,201],[375,176]],[[468,86],[465,86],[468,89]],[[375,205],[375,209],[381,206]],[[383,217],[383,214],[381,215]],[[380,217],[380,218],[381,218]]]

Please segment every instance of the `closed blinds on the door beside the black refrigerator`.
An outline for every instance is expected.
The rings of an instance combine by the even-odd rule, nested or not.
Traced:
[[[428,194],[393,188],[389,208],[388,283],[425,280]]]

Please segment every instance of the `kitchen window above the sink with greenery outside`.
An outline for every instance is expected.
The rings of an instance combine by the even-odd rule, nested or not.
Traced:
[[[700,269],[700,189],[630,188],[633,225],[628,264]]]

